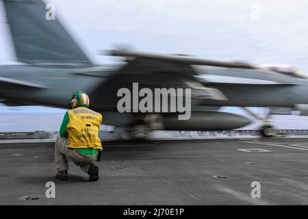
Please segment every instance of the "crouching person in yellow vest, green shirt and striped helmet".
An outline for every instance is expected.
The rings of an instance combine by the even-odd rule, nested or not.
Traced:
[[[57,179],[68,179],[68,158],[89,175],[89,181],[99,180],[101,157],[99,127],[102,115],[89,109],[89,97],[85,92],[73,94],[69,104],[72,110],[64,115],[60,136],[55,140],[55,166]]]

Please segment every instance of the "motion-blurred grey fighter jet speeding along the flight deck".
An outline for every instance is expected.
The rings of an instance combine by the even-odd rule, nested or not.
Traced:
[[[90,107],[103,114],[104,124],[125,127],[137,138],[146,138],[152,130],[219,131],[251,123],[244,116],[218,112],[222,106],[243,107],[256,118],[246,107],[308,114],[308,79],[296,70],[127,49],[108,53],[124,57],[123,64],[97,65],[59,18],[47,19],[43,1],[2,1],[16,59],[22,63],[0,68],[0,99],[7,105],[67,108],[71,94],[83,90],[90,96]],[[136,111],[133,106],[129,112],[119,112],[118,91],[127,88],[133,92],[136,83],[150,90],[191,89],[190,118],[179,120],[175,112]],[[167,108],[171,104],[168,102]],[[272,136],[274,129],[264,121],[262,133]]]

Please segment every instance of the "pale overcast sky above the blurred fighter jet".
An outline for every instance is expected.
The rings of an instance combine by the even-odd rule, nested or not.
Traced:
[[[308,1],[52,0],[56,16],[92,60],[114,44],[255,64],[290,64],[308,72]],[[2,5],[1,5],[2,7]],[[0,11],[0,63],[14,61]]]

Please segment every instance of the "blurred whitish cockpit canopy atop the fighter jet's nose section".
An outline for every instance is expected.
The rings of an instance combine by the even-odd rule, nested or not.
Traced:
[[[308,75],[303,71],[297,70],[293,66],[288,66],[285,64],[261,64],[258,65],[257,68],[261,68],[264,70],[272,70],[274,72],[282,73],[293,77],[308,78]]]

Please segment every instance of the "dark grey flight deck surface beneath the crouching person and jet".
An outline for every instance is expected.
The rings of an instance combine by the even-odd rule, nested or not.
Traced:
[[[99,181],[88,182],[72,162],[68,181],[59,181],[53,143],[0,144],[0,204],[308,204],[308,138],[104,142],[104,149]],[[55,198],[45,196],[48,181]],[[251,197],[254,181],[261,198]]]

